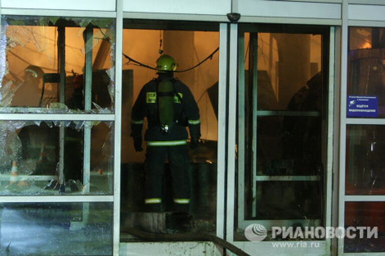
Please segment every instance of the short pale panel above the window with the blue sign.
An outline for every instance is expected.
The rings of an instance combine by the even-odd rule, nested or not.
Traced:
[[[348,18],[356,20],[385,20],[385,6],[349,4]]]

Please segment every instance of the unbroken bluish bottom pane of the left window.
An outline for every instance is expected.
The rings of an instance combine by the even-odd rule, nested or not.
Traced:
[[[112,255],[112,202],[3,203],[2,255]]]

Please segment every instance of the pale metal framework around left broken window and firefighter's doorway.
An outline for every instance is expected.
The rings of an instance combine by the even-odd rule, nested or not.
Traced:
[[[100,120],[114,122],[114,190],[113,195],[49,195],[49,196],[0,196],[0,202],[113,202],[113,255],[119,255],[120,246],[120,147],[121,147],[121,91],[122,91],[122,33],[123,17],[133,17],[123,13],[123,1],[117,0],[116,11],[81,11],[81,10],[41,10],[2,8],[0,14],[21,16],[65,16],[65,17],[109,17],[116,21],[115,49],[115,112],[110,114],[71,114],[71,113],[0,113],[0,120]],[[184,14],[147,14],[148,17],[180,20],[227,21],[225,16],[184,15]],[[134,17],[141,17],[142,15]],[[219,120],[218,120],[218,181],[217,181],[217,235],[225,233],[225,159],[226,152],[226,93],[227,93],[227,24],[221,23],[220,59],[219,59]]]

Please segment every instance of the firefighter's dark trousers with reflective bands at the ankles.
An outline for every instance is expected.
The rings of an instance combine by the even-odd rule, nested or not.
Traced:
[[[145,168],[145,198],[162,198],[164,162],[168,158],[171,176],[172,190],[175,209],[187,211],[189,200],[189,160],[187,145],[176,146],[147,146]],[[148,206],[155,208],[160,206],[160,202],[147,203]],[[151,205],[150,205],[151,204]]]

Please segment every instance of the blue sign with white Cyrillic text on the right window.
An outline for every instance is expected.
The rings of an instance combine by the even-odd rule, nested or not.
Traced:
[[[347,116],[377,117],[378,96],[348,96]]]

